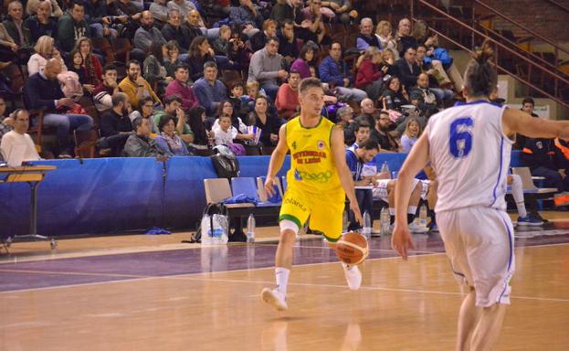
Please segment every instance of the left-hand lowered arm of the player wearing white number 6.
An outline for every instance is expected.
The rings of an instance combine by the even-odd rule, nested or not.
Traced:
[[[414,249],[413,240],[407,227],[407,207],[409,206],[409,197],[413,192],[413,178],[427,165],[428,147],[426,132],[421,135],[411,149],[411,153],[399,170],[395,184],[395,229],[391,237],[391,247],[404,260],[407,259],[407,250]]]

